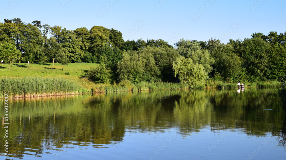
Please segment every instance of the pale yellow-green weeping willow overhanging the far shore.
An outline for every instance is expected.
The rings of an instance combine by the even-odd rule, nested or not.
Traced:
[[[206,72],[201,64],[193,63],[190,58],[177,58],[173,64],[175,77],[178,75],[183,83],[188,83],[190,87],[201,86],[204,84]]]

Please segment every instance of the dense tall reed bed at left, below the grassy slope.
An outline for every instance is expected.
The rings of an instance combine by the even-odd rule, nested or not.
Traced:
[[[89,93],[75,81],[63,78],[2,78],[0,79],[0,95],[9,94],[9,97],[40,97],[51,95],[74,95]]]

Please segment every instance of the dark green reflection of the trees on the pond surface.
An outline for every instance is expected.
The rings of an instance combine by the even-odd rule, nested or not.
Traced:
[[[283,114],[274,96],[270,89],[210,89],[13,99],[9,110],[9,145],[13,148],[9,154],[40,156],[44,150],[67,144],[117,146],[134,132],[162,134],[177,130],[186,138],[204,129],[281,134],[279,145],[285,146],[285,120],[281,122]],[[4,112],[3,107],[0,110]],[[0,140],[3,146],[3,136]]]

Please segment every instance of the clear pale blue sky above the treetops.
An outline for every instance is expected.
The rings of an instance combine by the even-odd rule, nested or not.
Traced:
[[[160,38],[172,44],[180,38],[217,38],[227,43],[255,32],[286,31],[285,0],[1,0],[0,6],[0,22],[19,17],[68,30],[104,26],[121,31],[124,40]]]

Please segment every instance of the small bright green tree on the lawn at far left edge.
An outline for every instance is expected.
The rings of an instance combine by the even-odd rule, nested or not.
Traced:
[[[21,60],[21,52],[17,48],[8,42],[0,42],[0,59],[9,63],[9,69],[11,64],[17,60]]]

